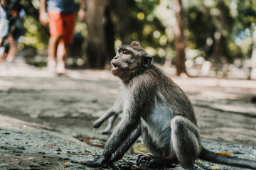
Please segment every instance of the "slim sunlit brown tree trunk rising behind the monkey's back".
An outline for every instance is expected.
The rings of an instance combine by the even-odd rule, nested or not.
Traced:
[[[176,16],[176,23],[174,25],[174,35],[175,35],[175,64],[177,75],[187,74],[186,72],[186,54],[185,54],[185,37],[183,34],[183,10],[181,0],[174,0],[174,11]]]

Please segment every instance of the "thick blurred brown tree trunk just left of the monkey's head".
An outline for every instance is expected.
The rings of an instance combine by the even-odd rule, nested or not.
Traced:
[[[102,69],[105,67],[110,54],[107,49],[105,23],[108,0],[87,0],[87,45],[85,52],[85,66]]]

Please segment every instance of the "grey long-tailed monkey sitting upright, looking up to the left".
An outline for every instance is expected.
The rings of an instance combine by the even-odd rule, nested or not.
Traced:
[[[174,169],[193,169],[196,159],[216,164],[256,169],[256,161],[211,152],[203,147],[196,115],[185,92],[152,64],[152,57],[139,42],[117,47],[111,72],[122,81],[123,116],[107,141],[102,155],[81,162],[104,166],[122,159],[139,136],[150,154],[137,164],[172,164]]]

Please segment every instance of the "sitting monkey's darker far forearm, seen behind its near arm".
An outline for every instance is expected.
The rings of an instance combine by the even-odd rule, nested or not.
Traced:
[[[117,152],[115,152],[112,155],[111,158],[111,162],[116,162],[119,159],[122,159],[122,157],[124,156],[125,152],[127,152],[127,150],[132,147],[132,145],[134,145],[134,142],[136,142],[136,140],[139,138],[139,136],[142,134],[142,130],[141,130],[141,126],[139,125],[139,127],[134,130],[134,132],[132,132],[132,135],[129,137],[128,140],[126,140],[124,142],[124,144],[122,145],[122,147],[120,147]]]

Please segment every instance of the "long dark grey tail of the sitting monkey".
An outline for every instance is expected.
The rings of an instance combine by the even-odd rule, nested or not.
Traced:
[[[230,157],[225,154],[217,154],[215,152],[211,152],[206,148],[202,148],[202,152],[198,157],[199,159],[203,159],[208,162],[213,162],[216,164],[225,164],[230,166],[236,166],[247,169],[256,169],[256,161],[249,159],[242,159],[238,157]]]

